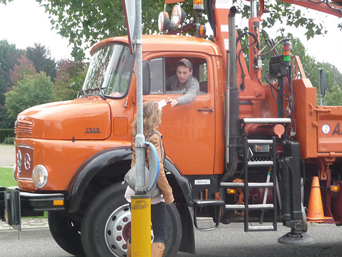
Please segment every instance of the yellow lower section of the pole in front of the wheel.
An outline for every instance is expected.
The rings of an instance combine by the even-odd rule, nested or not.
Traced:
[[[150,195],[131,196],[132,256],[151,256]]]

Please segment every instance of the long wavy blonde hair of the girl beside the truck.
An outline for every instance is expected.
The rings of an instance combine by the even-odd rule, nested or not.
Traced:
[[[161,123],[161,110],[157,101],[146,101],[142,104],[143,113],[143,130],[144,136],[148,136],[151,132],[157,130]],[[137,135],[137,114],[134,116],[134,121],[132,123],[132,136],[135,140]]]

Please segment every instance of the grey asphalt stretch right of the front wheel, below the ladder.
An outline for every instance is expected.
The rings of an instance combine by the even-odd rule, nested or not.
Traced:
[[[195,231],[198,257],[336,257],[342,256],[342,228],[334,224],[309,224],[308,235],[315,239],[312,245],[282,245],[278,238],[289,229],[278,223],[275,232],[244,232],[244,225],[220,225],[212,232]],[[177,257],[191,257],[179,253]]]

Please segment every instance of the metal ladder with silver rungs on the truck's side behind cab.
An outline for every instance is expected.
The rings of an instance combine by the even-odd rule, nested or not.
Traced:
[[[272,149],[272,160],[250,160],[250,147],[259,145],[261,147],[269,147]],[[248,182],[248,168],[250,167],[272,167],[272,182]],[[244,210],[244,229],[245,232],[250,231],[276,231],[277,225],[277,194],[276,194],[276,138],[272,139],[248,139],[244,137],[244,182],[221,182],[221,186],[227,188],[244,188],[244,204],[226,204],[226,210]],[[250,188],[273,188],[272,204],[249,204],[248,190]],[[250,210],[273,210],[273,225],[249,225]]]

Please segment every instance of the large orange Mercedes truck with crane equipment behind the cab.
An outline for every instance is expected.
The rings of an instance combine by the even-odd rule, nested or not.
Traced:
[[[341,16],[337,4],[295,4]],[[261,232],[282,222],[289,233],[278,241],[300,244],[312,241],[308,221],[342,223],[342,108],[317,106],[316,88],[299,58],[290,57],[289,39],[267,40],[261,51],[263,6],[263,0],[259,10],[250,1],[249,32],[237,35],[229,1],[196,1],[199,14],[207,9],[215,43],[200,37],[205,29],[199,23],[172,28],[165,13],[159,16],[164,33],[142,38],[144,101],[183,94],[166,86],[180,58],[192,62],[200,85],[191,103],[163,107],[164,167],[175,199],[168,206],[164,256],[195,254],[194,227],[244,222],[246,232]],[[189,27],[197,36],[177,35]],[[0,187],[0,215],[21,230],[21,217],[48,211],[51,234],[66,252],[126,256],[131,214],[122,180],[130,169],[137,110],[135,54],[127,36],[101,40],[91,54],[77,99],[18,114],[18,186]],[[266,54],[271,58],[262,77]],[[215,225],[202,227],[198,217]]]

